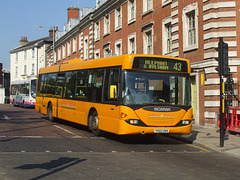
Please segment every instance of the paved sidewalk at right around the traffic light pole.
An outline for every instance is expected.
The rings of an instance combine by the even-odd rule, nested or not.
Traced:
[[[193,124],[190,135],[175,135],[192,143],[198,143],[215,151],[240,157],[240,133],[225,132],[224,146],[220,147],[220,129]]]

